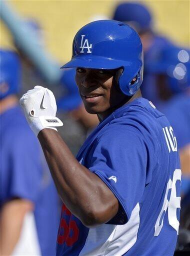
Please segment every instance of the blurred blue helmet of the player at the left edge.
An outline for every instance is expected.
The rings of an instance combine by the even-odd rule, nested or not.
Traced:
[[[0,99],[17,93],[21,79],[21,65],[17,54],[0,49]]]

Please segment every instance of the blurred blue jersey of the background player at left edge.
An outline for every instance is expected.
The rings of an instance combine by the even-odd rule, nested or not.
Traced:
[[[33,202],[41,254],[55,255],[58,197],[39,143],[19,106],[0,119],[0,206],[14,197]]]

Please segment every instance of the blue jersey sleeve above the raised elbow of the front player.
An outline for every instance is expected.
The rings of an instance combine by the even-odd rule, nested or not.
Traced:
[[[103,180],[119,202],[119,211],[109,223],[124,224],[147,183],[146,145],[127,126],[118,126],[101,135],[92,151],[89,169]]]

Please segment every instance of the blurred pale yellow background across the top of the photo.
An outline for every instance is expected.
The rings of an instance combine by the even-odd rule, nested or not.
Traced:
[[[110,0],[9,0],[9,6],[22,17],[35,18],[44,29],[45,45],[60,63],[71,56],[76,31],[94,16],[111,17],[120,1]],[[175,43],[189,46],[189,0],[146,0],[153,13],[157,32]],[[0,24],[0,46],[12,48],[11,36]]]

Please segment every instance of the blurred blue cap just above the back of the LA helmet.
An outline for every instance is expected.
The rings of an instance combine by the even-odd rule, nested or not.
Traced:
[[[152,17],[146,6],[137,2],[122,2],[117,5],[113,19],[126,22],[133,26],[138,32],[150,30]]]

